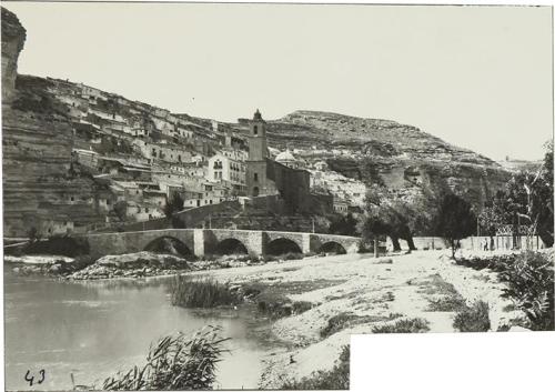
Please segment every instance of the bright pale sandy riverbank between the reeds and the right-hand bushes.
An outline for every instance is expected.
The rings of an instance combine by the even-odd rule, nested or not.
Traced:
[[[456,265],[447,253],[417,251],[377,259],[349,254],[208,275],[230,287],[269,288],[274,296],[304,304],[302,312],[272,325],[272,333],[286,349],[266,355],[260,388],[279,389],[315,371],[331,370],[352,334],[402,331],[398,325],[410,324],[421,325],[422,332],[457,332],[453,326],[456,306],[445,305],[450,301],[463,305],[485,301],[491,330],[511,329],[522,314],[501,298],[503,284],[495,273]],[[198,273],[206,274],[192,274]]]

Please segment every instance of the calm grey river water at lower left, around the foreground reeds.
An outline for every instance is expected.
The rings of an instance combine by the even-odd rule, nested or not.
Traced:
[[[168,279],[83,283],[4,272],[8,390],[71,389],[71,373],[75,384],[101,388],[118,370],[142,364],[151,342],[209,324],[231,338],[214,386],[255,389],[262,356],[272,345],[268,321],[251,309],[206,313],[172,306]],[[44,381],[38,385],[42,369]]]

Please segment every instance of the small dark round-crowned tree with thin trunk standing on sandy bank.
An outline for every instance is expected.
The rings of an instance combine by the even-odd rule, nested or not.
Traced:
[[[446,194],[440,205],[437,232],[451,244],[452,257],[455,258],[455,241],[460,241],[474,232],[476,217],[471,204],[456,194]]]

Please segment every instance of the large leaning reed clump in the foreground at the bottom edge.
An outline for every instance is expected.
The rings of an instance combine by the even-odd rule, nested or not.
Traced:
[[[147,364],[118,372],[103,382],[108,391],[206,390],[215,381],[216,364],[226,350],[218,328],[193,335],[170,335],[151,345]]]

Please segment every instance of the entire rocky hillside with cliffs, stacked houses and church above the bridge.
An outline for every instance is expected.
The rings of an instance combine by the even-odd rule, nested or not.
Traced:
[[[441,178],[480,205],[507,179],[492,160],[395,121],[313,111],[266,121],[256,111],[228,123],[80,82],[17,74],[26,31],[4,9],[2,18],[11,237],[159,229],[173,224],[168,204],[170,214],[190,211],[181,227],[243,219],[249,227],[265,220],[274,229],[325,232],[330,215],[362,211],[373,183],[405,197]],[[263,134],[253,139],[256,115]],[[270,173],[273,185],[263,174],[263,187],[254,187],[255,173]]]

